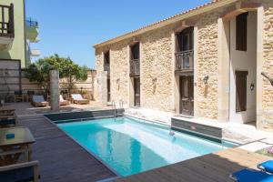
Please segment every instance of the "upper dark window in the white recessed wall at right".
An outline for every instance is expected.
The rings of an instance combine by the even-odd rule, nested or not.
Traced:
[[[247,51],[248,48],[248,13],[236,17],[236,50]]]

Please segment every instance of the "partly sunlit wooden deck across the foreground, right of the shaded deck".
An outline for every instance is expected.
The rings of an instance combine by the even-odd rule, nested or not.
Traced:
[[[245,167],[256,169],[258,163],[268,159],[270,158],[256,153],[231,148],[135,176],[119,178],[116,179],[116,182],[230,182],[231,180],[228,178],[230,174]]]

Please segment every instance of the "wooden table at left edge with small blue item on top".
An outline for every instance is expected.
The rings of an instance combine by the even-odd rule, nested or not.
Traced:
[[[15,138],[6,139],[6,134],[15,134]],[[0,128],[0,166],[15,164],[22,154],[25,162],[32,160],[34,142],[27,127]]]

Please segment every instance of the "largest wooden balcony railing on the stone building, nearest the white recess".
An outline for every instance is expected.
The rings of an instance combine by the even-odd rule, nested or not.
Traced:
[[[188,50],[176,53],[176,70],[191,71],[194,69],[194,51]]]

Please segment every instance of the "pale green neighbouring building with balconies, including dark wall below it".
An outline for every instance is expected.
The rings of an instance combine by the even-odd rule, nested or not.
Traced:
[[[22,69],[31,56],[39,56],[39,50],[30,49],[37,35],[37,22],[25,19],[25,0],[0,1],[0,99],[13,100],[9,97],[24,89]]]

